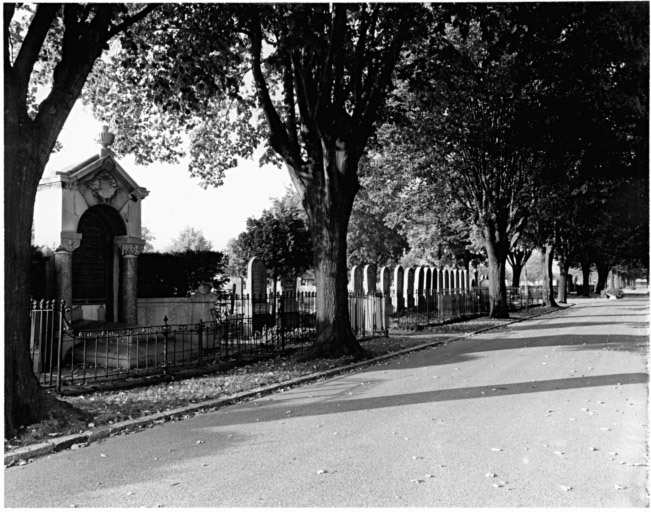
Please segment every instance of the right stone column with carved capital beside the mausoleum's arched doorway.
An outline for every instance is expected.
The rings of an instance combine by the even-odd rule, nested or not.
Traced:
[[[138,323],[138,255],[145,247],[145,241],[129,236],[116,236],[116,248],[120,259],[120,292],[118,321],[125,324]]]

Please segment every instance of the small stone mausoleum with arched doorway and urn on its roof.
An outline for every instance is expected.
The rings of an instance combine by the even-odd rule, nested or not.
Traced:
[[[71,319],[136,324],[141,204],[149,192],[122,168],[103,127],[98,154],[39,183],[34,245],[48,256],[50,297]]]

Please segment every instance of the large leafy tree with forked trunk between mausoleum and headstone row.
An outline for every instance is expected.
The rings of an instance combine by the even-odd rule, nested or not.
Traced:
[[[311,355],[363,352],[350,328],[346,269],[358,163],[400,51],[433,12],[382,3],[168,6],[146,33],[123,39],[125,66],[105,87],[117,92],[92,98],[98,112],[117,113],[120,133],[192,130],[190,171],[206,184],[221,184],[224,170],[266,139],[290,173],[312,235]],[[163,135],[123,150],[159,157]]]

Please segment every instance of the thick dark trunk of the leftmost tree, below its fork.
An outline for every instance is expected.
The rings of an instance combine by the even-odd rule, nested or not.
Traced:
[[[73,410],[44,391],[30,356],[30,249],[36,187],[51,148],[35,142],[32,122],[5,83],[5,437],[20,427]]]

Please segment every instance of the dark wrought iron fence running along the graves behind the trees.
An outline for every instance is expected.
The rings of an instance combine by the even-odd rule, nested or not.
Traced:
[[[539,303],[538,290],[509,292],[512,307]],[[397,302],[397,301],[394,301]],[[395,311],[390,296],[350,293],[351,327],[356,336],[387,335],[450,318],[486,314],[486,289],[416,294],[410,307]],[[402,301],[401,301],[402,303]],[[194,325],[76,330],[64,304],[34,302],[31,311],[33,368],[41,384],[56,387],[161,374],[181,368],[264,356],[313,343],[316,293],[255,296],[223,294],[210,319]]]

